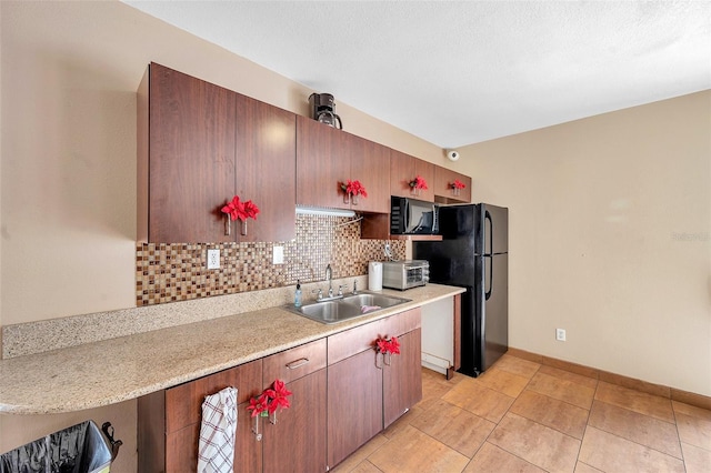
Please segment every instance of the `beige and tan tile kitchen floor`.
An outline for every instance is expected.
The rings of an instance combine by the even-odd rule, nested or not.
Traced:
[[[509,354],[422,394],[333,471],[711,473],[711,411]]]

